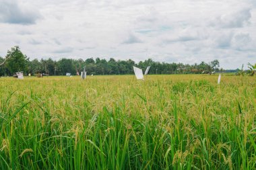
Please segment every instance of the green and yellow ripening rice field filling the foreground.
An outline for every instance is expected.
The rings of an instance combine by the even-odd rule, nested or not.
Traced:
[[[0,79],[0,169],[255,169],[256,77]]]

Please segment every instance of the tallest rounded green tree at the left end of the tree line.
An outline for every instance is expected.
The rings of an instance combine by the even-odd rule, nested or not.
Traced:
[[[24,71],[24,73],[28,71],[29,58],[22,54],[19,46],[14,46],[11,50],[8,50],[6,57],[9,58],[6,61],[6,67],[9,71],[9,75],[18,71]]]

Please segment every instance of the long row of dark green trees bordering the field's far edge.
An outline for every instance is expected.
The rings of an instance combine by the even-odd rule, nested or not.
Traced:
[[[4,62],[4,63],[3,63]],[[1,65],[3,63],[3,65]],[[86,67],[86,72],[93,75],[129,75],[133,74],[133,66],[146,70],[146,67],[151,66],[149,74],[199,74],[212,73],[214,71],[222,71],[219,69],[220,62],[213,60],[210,63],[201,62],[194,65],[179,63],[157,62],[152,59],[135,63],[133,60],[109,60],[100,58],[87,58],[86,60],[61,58],[60,60],[34,59],[30,60],[28,56],[23,54],[19,46],[14,46],[7,51],[5,57],[0,56],[0,76],[11,76],[18,71],[24,71],[24,75],[36,75],[44,73],[46,75],[76,75]]]

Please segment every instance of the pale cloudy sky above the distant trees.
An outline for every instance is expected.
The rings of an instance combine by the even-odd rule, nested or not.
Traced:
[[[0,56],[256,63],[255,0],[0,0]]]

